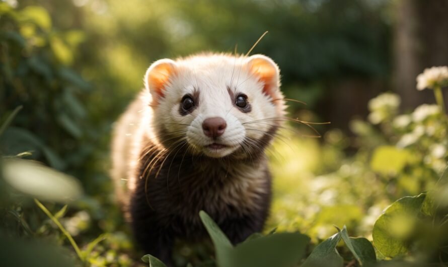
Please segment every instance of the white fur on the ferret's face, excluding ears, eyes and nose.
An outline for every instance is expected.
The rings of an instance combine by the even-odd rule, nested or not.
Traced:
[[[250,146],[249,140],[261,139],[275,124],[272,119],[282,115],[279,114],[281,108],[263,94],[259,78],[245,68],[246,59],[198,55],[177,60],[176,74],[170,77],[164,89],[165,96],[154,107],[154,125],[179,137],[179,142],[186,140],[195,153],[214,158],[230,155],[243,144]],[[247,95],[250,112],[244,113],[235,106],[228,88],[234,96]],[[191,113],[182,115],[179,109],[186,94],[198,94],[199,101]],[[202,129],[202,122],[211,117],[221,117],[227,123],[225,132],[216,139],[207,137]],[[208,147],[213,143],[225,147]]]

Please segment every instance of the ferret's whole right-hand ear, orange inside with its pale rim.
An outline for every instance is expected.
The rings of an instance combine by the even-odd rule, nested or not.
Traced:
[[[249,71],[263,83],[263,93],[276,98],[280,86],[280,71],[277,64],[270,57],[256,54],[247,59]]]

